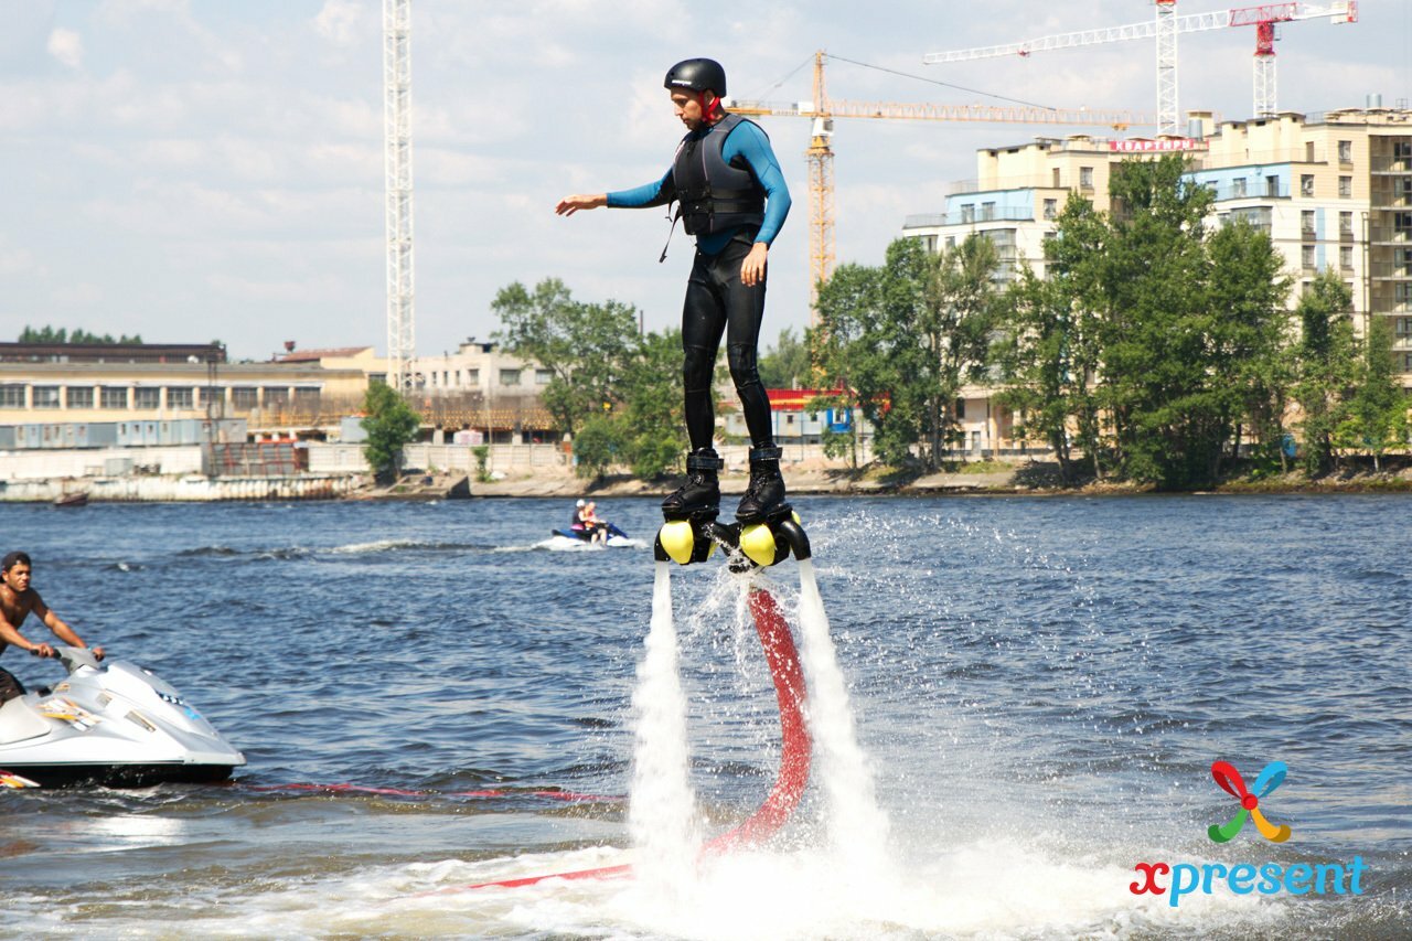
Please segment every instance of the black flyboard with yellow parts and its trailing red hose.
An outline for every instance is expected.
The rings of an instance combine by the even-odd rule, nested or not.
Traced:
[[[809,537],[799,516],[786,504],[762,523],[719,523],[717,513],[669,519],[657,534],[652,554],[658,567],[671,562],[690,565],[707,561],[722,547],[726,564],[736,574],[753,574],[778,565],[791,555],[803,562],[810,558]],[[770,665],[775,698],[779,704],[782,747],[775,784],[760,807],[744,821],[702,845],[703,855],[719,855],[734,848],[758,845],[789,819],[809,783],[812,745],[805,726],[805,680],[789,622],[768,588],[751,582],[747,606],[755,633]],[[628,876],[631,865],[546,873],[518,879],[498,879],[459,886],[465,889],[532,886],[549,879],[611,879]],[[448,890],[441,890],[448,892]],[[435,893],[433,893],[435,894]]]

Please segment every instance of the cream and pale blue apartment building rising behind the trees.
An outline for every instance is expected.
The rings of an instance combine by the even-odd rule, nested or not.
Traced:
[[[1183,151],[1189,178],[1211,189],[1211,222],[1244,219],[1269,235],[1296,283],[1291,304],[1320,271],[1353,294],[1354,319],[1392,321],[1404,383],[1412,386],[1412,110],[1368,107],[1213,122],[1193,112],[1189,137],[1107,140],[1073,136],[977,153],[977,178],[950,188],[945,212],[908,216],[905,236],[933,250],[971,233],[1000,249],[998,281],[1042,264],[1043,240],[1070,192],[1108,208],[1115,161]]]

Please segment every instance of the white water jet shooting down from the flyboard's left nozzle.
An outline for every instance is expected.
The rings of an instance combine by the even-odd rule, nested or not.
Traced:
[[[686,697],[678,667],[669,562],[652,582],[652,625],[633,691],[635,746],[628,795],[628,834],[645,894],[681,894],[695,876],[700,848],[696,794],[686,746]]]

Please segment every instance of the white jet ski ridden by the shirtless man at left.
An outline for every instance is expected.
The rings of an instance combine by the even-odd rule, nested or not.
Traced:
[[[222,781],[246,763],[168,682],[55,647],[69,677],[0,705],[0,787]]]

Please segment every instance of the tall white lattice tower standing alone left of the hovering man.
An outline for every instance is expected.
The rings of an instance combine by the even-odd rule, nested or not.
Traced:
[[[383,0],[383,155],[387,199],[387,384],[412,387],[412,0]]]

